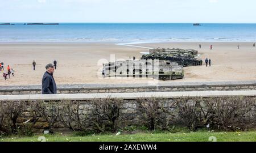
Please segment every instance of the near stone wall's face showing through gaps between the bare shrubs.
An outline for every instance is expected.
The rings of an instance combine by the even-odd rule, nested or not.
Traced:
[[[72,94],[71,94],[72,95]],[[16,95],[16,96],[23,96],[23,95]],[[28,99],[23,99],[22,101],[27,103],[27,108],[24,109],[24,112],[22,113],[22,116],[18,118],[18,122],[22,123],[22,122],[26,122],[28,119],[31,119],[31,110],[28,106],[31,106],[31,103],[36,103],[36,101],[44,101],[43,103],[46,104],[46,111],[48,110],[52,110],[53,108],[51,107],[51,105],[49,105],[49,103],[53,103],[53,105],[59,105],[60,107],[63,107],[65,105],[65,103],[67,102],[66,100],[63,99],[55,99],[52,101],[48,100],[48,95],[42,95],[42,96],[46,96],[46,99],[31,99],[31,97],[28,95]],[[52,96],[57,96],[57,95],[52,95]],[[228,95],[226,95],[228,96]],[[253,101],[256,100],[256,94],[255,95],[251,95],[251,96],[243,96],[243,97],[250,97],[251,99],[253,99]],[[211,96],[209,96],[211,97]],[[209,98],[207,96],[204,97],[204,99]],[[217,96],[219,97],[219,96]],[[223,97],[223,96],[220,96]],[[240,97],[240,96],[236,96],[236,97]],[[184,97],[184,98],[188,98],[188,97]],[[148,98],[150,99],[150,98]],[[148,101],[148,99],[146,99],[146,101]],[[88,115],[88,112],[90,112],[92,110],[92,103],[95,102],[95,100],[101,100],[101,99],[76,99],[75,101],[79,103],[79,116],[84,117]],[[117,100],[117,99],[115,99]],[[123,121],[123,126],[127,126],[127,125],[142,125],[142,120],[141,120],[141,116],[138,113],[138,100],[139,98],[134,98],[134,99],[126,99],[123,98],[121,99],[121,109],[120,109],[120,116],[122,116],[122,121]],[[156,100],[159,100],[158,97],[156,97]],[[174,102],[177,100],[176,97],[166,97],[164,99],[160,98],[160,103],[161,105],[163,105],[163,107],[168,108],[171,107]],[[19,100],[1,100],[0,99],[0,103],[4,103],[5,105],[7,103],[11,103],[11,101],[19,101]],[[69,99],[69,101],[72,101],[71,99]],[[30,102],[30,103],[28,103]],[[74,102],[74,101],[73,101]],[[97,102],[97,101],[96,101]],[[105,103],[105,101],[104,101]],[[173,105],[173,108],[171,109],[175,109],[175,105]],[[0,109],[1,111],[1,109]],[[254,111],[255,113],[255,111]],[[51,114],[51,113],[49,113]],[[177,116],[177,113],[174,112],[174,116]],[[173,116],[172,116],[173,117]],[[175,120],[174,120],[175,121]],[[36,122],[36,124],[34,125],[34,128],[37,129],[44,129],[47,128],[48,124],[46,122],[46,120],[43,117],[40,117],[39,120]],[[61,124],[60,121],[56,122],[56,124],[54,124],[55,128],[61,129],[64,128],[63,124]]]

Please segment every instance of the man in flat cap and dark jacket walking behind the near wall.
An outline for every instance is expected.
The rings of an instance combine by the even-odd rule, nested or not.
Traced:
[[[57,87],[53,78],[54,65],[49,63],[46,65],[46,73],[42,79],[42,94],[57,94]]]

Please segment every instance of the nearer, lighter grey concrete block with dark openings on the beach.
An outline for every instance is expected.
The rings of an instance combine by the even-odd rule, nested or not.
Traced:
[[[102,75],[104,77],[146,77],[159,80],[174,80],[182,79],[184,71],[183,66],[170,61],[127,60],[105,63]]]

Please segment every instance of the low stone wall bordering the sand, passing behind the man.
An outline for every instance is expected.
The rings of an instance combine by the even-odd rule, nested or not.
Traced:
[[[167,91],[239,91],[256,90],[256,81],[246,82],[160,82],[157,84],[64,84],[57,94]],[[41,86],[0,86],[0,95],[41,94]]]

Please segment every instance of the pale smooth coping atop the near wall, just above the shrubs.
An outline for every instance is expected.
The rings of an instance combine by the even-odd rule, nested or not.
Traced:
[[[138,99],[147,97],[212,97],[212,96],[256,96],[256,91],[183,91],[183,92],[130,92],[102,94],[54,94],[54,95],[0,95],[0,101],[7,100],[89,100],[108,97],[121,99]]]

